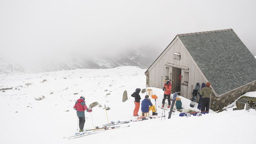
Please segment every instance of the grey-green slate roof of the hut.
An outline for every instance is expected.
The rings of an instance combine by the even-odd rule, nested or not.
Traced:
[[[256,59],[232,29],[177,36],[218,95],[256,80]]]

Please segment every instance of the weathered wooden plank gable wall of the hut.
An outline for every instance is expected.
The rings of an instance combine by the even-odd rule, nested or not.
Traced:
[[[201,75],[201,70],[198,69],[198,66],[195,65],[194,60],[191,55],[188,53],[187,49],[181,44],[181,40],[177,37],[175,40],[167,47],[167,49],[159,56],[158,60],[150,67],[149,69],[149,86],[162,88],[164,84],[164,79],[166,75],[166,63],[187,67],[189,70],[182,70],[181,75],[184,76],[184,72],[189,72],[189,82],[188,85],[181,85],[181,96],[185,98],[192,98],[192,90],[195,87],[197,82],[206,83],[207,79],[204,79],[204,76]],[[179,53],[180,60],[174,59],[174,53]],[[170,68],[171,72],[171,68]],[[201,72],[201,73],[200,73]],[[183,80],[182,80],[183,81]],[[183,83],[181,81],[181,83]]]

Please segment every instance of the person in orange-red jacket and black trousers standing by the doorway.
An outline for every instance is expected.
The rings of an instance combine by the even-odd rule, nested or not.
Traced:
[[[167,97],[167,100],[168,100],[168,107],[167,108],[171,107],[171,90],[172,90],[172,84],[170,83],[170,79],[166,78],[165,79],[165,84],[164,84],[164,87],[163,87],[164,98],[163,98],[163,101],[162,101],[162,108],[164,107],[166,97]]]

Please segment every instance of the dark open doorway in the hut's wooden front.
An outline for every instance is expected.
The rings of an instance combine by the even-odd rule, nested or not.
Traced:
[[[179,92],[181,84],[181,69],[172,67],[172,93]]]

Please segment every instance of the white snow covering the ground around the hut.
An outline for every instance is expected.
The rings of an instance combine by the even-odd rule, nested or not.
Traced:
[[[209,114],[201,117],[179,117],[180,112],[175,111],[171,119],[167,119],[167,116],[162,121],[156,118],[130,122],[125,124],[130,125],[127,128],[107,130],[72,140],[63,138],[77,132],[77,116],[73,106],[80,96],[85,96],[87,105],[97,101],[103,107],[109,106],[109,121],[134,120],[134,98],[130,95],[136,88],[146,88],[145,71],[134,66],[123,66],[113,69],[0,74],[0,89],[13,87],[12,90],[0,92],[0,143],[256,143],[256,111],[233,111],[235,103],[227,106],[226,111],[215,113],[210,110]],[[44,79],[47,81],[43,82]],[[162,109],[158,106],[161,106],[163,91],[149,88],[158,96],[157,112],[161,116]],[[128,93],[126,102],[122,102],[124,90]],[[142,100],[145,95],[140,93]],[[256,97],[256,92],[244,95]],[[35,100],[42,96],[45,98]],[[197,104],[190,108],[190,100],[179,97],[183,111],[198,111]],[[151,101],[155,104],[154,99]],[[96,106],[92,113],[85,112],[87,119],[84,129],[108,123],[103,107]],[[138,114],[141,115],[141,111]]]

